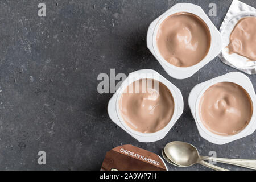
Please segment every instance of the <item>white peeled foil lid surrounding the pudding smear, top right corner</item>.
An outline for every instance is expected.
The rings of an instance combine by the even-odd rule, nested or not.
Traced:
[[[256,74],[256,61],[247,61],[248,59],[246,57],[236,53],[229,54],[228,48],[226,48],[229,44],[230,34],[237,22],[241,18],[248,16],[256,16],[256,9],[241,1],[233,0],[220,27],[222,51],[218,56],[223,63],[228,64],[230,67],[239,69],[247,74]]]

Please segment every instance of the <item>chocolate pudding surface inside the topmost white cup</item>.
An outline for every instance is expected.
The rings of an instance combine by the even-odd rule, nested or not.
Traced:
[[[207,55],[210,48],[207,24],[192,13],[175,13],[159,26],[156,44],[160,54],[176,67],[191,67]]]

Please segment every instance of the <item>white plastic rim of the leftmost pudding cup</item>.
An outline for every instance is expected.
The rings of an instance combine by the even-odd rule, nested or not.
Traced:
[[[151,77],[150,75],[157,75],[158,80],[154,77]],[[134,77],[135,76],[135,77]],[[172,115],[172,118],[170,122],[159,131],[156,131],[155,133],[141,133],[138,131],[135,131],[131,129],[125,121],[123,121],[123,118],[121,116],[121,113],[119,111],[119,100],[123,93],[123,91],[127,88],[129,84],[136,80],[141,80],[143,78],[151,78],[154,80],[157,80],[159,82],[162,82],[171,92],[172,97],[174,98],[174,114]],[[108,104],[108,114],[110,119],[117,124],[119,127],[121,127],[123,130],[126,131],[126,133],[130,134],[132,137],[137,139],[139,142],[155,142],[158,141],[166,136],[168,131],[174,126],[177,119],[180,118],[181,114],[183,113],[183,97],[180,92],[180,90],[173,85],[171,82],[169,82],[166,78],[164,78],[162,75],[160,75],[158,72],[152,70],[152,69],[141,69],[139,71],[135,71],[129,74],[129,76],[122,82],[121,86],[117,90],[117,92],[114,93],[112,98],[109,100]]]

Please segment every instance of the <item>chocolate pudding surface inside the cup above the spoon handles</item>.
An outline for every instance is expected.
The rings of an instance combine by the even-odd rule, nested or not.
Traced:
[[[210,86],[199,104],[204,126],[217,135],[234,135],[245,129],[251,119],[253,106],[249,94],[233,82]]]

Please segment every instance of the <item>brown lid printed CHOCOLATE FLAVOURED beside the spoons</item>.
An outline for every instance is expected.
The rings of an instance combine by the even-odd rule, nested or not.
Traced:
[[[104,171],[166,171],[163,160],[156,154],[126,144],[106,153],[101,170]]]

